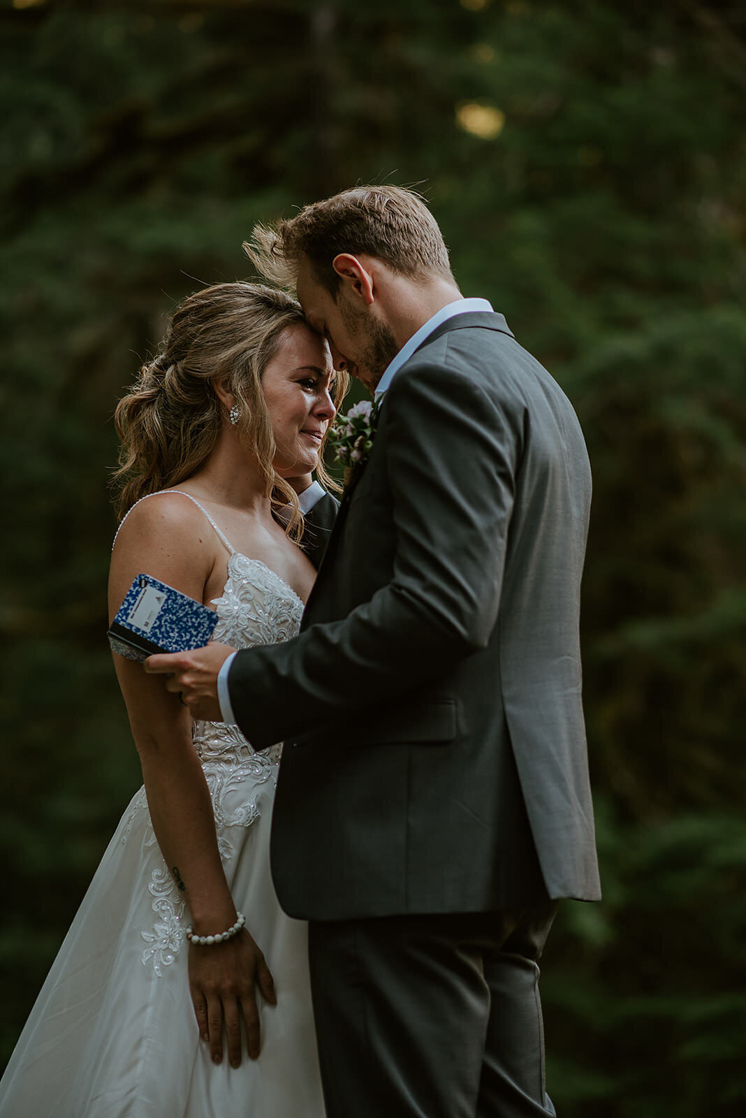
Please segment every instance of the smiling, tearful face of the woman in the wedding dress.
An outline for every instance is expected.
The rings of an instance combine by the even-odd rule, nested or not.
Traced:
[[[318,465],[326,428],[334,418],[329,349],[308,326],[288,326],[261,378],[280,477],[309,474]]]

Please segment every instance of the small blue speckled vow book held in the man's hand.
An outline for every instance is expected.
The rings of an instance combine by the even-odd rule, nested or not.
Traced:
[[[151,575],[137,575],[106,635],[113,652],[142,661],[155,652],[201,648],[217,624],[214,609]]]

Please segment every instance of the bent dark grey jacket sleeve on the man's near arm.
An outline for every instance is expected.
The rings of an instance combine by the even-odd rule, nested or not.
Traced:
[[[520,417],[469,377],[422,363],[393,382],[380,423],[393,578],[344,620],[237,654],[231,703],[255,748],[443,675],[484,648],[495,626]]]

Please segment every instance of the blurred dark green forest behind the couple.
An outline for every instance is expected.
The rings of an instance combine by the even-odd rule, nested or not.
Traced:
[[[549,1091],[742,1115],[743,4],[6,0],[0,27],[4,1055],[140,783],[104,636],[114,404],[176,300],[250,274],[256,220],[396,182],[594,468],[604,901],[547,945]]]

